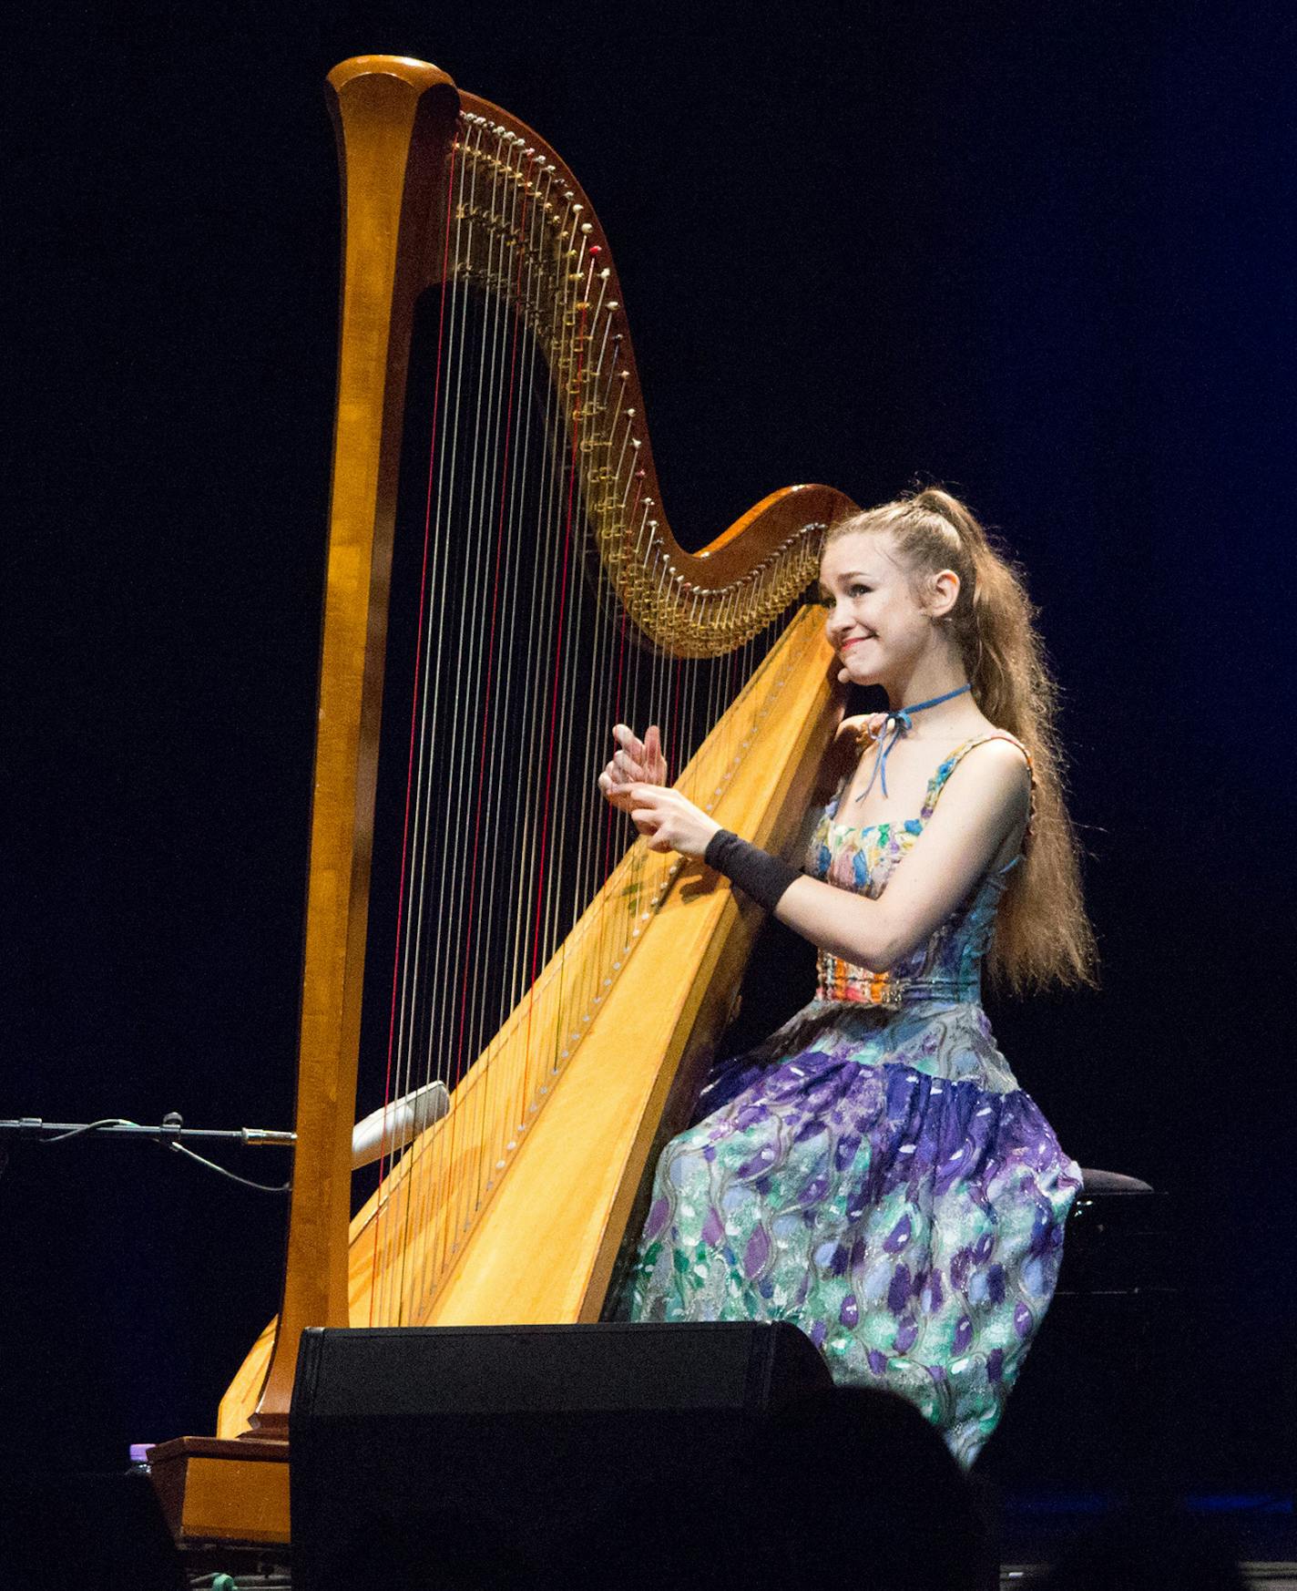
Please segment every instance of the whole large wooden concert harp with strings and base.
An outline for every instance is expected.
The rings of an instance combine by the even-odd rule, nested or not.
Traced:
[[[610,725],[661,722],[680,788],[777,850],[834,724],[804,593],[849,500],[787,487],[683,552],[563,161],[416,60],[347,60],[329,103],[345,235],[294,1192],[281,1309],[216,1437],[153,1453],[191,1540],[288,1538],[305,1327],[606,1313],[758,926],[701,866],[629,843],[594,788]],[[448,1112],[393,1134],[353,1209],[361,1107],[431,1080]]]

